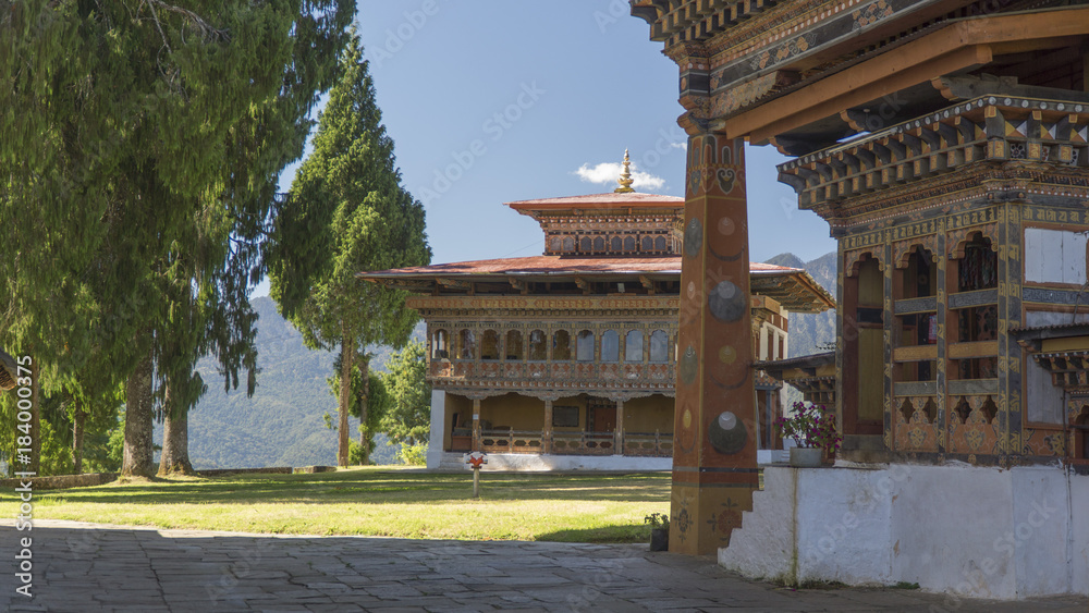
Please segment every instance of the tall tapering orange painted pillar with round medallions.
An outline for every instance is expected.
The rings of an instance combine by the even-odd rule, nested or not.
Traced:
[[[688,139],[670,551],[730,542],[759,487],[743,140]]]

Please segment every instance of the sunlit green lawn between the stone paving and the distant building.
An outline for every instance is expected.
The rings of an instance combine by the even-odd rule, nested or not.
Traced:
[[[668,473],[480,475],[360,468],[39,491],[35,519],[246,532],[637,542],[669,513]],[[17,515],[12,496],[0,513]]]

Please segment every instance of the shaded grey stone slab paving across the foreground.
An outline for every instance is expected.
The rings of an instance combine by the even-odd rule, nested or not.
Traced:
[[[1019,602],[919,590],[791,590],[711,556],[646,545],[285,537],[0,520],[0,611],[615,611],[1086,613],[1089,599]],[[33,599],[15,592],[30,537]]]

